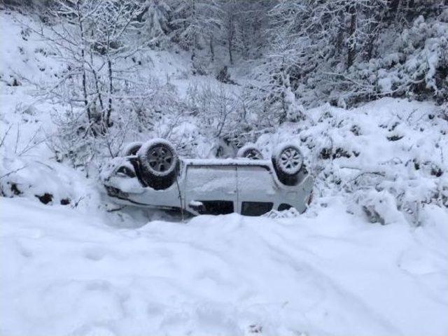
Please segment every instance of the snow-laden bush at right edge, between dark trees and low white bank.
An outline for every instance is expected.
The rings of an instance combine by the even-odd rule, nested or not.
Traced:
[[[379,36],[384,52],[378,57],[330,76],[335,85],[333,100],[342,96],[346,104],[353,104],[377,97],[405,96],[447,101],[448,22],[419,16],[409,29],[389,42],[392,34],[386,30]]]

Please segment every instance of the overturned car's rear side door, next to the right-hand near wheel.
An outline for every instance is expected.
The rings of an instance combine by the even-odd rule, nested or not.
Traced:
[[[238,212],[260,216],[276,205],[277,186],[265,166],[237,167]]]

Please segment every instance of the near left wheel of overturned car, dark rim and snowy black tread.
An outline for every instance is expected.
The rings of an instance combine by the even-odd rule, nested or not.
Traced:
[[[176,148],[165,139],[146,142],[137,152],[142,179],[147,186],[162,190],[172,186],[179,167]]]

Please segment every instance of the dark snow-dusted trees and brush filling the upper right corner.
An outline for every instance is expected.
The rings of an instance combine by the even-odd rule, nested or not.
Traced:
[[[381,97],[447,101],[448,9],[438,1],[397,3],[279,1],[269,11],[265,62],[255,71],[265,99],[278,101],[287,74],[305,106]]]

